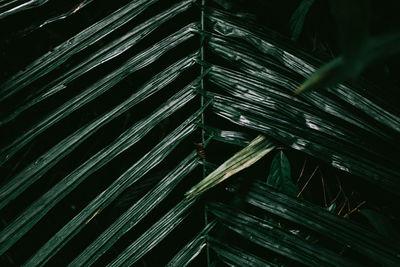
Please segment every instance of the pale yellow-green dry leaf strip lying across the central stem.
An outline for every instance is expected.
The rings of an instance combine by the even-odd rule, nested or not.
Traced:
[[[250,167],[274,148],[275,145],[264,136],[257,136],[247,147],[237,152],[215,171],[186,192],[186,197],[190,198],[202,194],[235,173]]]

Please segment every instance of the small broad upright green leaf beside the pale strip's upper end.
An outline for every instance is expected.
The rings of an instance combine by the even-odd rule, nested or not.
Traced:
[[[291,179],[290,163],[283,151],[279,151],[272,160],[267,185],[289,196],[296,197],[299,193],[298,188]]]

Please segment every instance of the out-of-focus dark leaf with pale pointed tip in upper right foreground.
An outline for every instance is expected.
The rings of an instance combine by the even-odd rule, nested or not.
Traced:
[[[332,1],[342,56],[320,67],[296,90],[319,89],[356,79],[372,61],[400,52],[400,33],[370,38],[370,1]]]

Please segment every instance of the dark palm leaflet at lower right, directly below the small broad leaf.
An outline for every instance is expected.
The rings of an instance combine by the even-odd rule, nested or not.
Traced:
[[[331,214],[308,201],[278,193],[265,183],[257,182],[246,198],[249,204],[276,216],[300,224],[312,231],[350,246],[360,254],[382,265],[399,261],[398,246],[382,236],[342,217]]]

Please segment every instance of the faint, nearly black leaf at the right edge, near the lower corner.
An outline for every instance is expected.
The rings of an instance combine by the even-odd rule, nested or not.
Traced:
[[[399,240],[400,234],[389,218],[371,209],[361,209],[359,212],[368,219],[378,233],[388,239]]]

